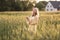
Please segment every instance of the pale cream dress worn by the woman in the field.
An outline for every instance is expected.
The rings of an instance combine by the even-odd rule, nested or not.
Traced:
[[[37,9],[37,8],[34,8],[34,9]],[[30,16],[27,19],[27,23],[29,24],[28,31],[33,31],[36,33],[38,20],[39,20],[39,12],[37,10],[36,16]]]

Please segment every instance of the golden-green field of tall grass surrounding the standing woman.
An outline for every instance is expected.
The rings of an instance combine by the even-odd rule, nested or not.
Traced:
[[[30,33],[31,12],[0,12],[0,40],[60,40],[60,12],[40,12],[37,34]]]

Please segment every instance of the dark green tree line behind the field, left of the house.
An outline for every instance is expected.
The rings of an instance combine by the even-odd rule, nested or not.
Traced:
[[[40,1],[36,3],[39,10],[44,10],[47,2]],[[0,0],[0,11],[30,11],[33,8],[33,3],[29,0]]]

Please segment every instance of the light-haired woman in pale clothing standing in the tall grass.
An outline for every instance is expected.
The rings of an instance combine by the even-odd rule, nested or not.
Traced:
[[[39,20],[39,11],[38,8],[33,8],[32,15],[27,17],[27,23],[29,24],[29,31],[36,31],[37,23]]]

